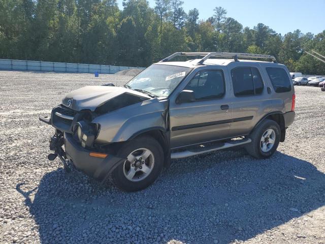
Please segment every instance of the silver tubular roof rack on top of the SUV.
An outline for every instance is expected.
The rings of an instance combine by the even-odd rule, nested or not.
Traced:
[[[277,63],[276,58],[272,55],[238,53],[238,52],[175,52],[174,54],[164,58],[160,62],[167,62],[176,56],[204,56],[202,59],[199,60],[197,65],[202,65],[205,62],[205,60],[207,60],[210,57],[231,57],[234,58],[235,61],[238,61],[239,57],[265,58],[265,59],[272,59],[274,63]]]

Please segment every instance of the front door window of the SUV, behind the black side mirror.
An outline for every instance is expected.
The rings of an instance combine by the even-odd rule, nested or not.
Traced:
[[[201,71],[184,89],[192,90],[196,100],[221,98],[225,93],[223,73],[220,70]]]

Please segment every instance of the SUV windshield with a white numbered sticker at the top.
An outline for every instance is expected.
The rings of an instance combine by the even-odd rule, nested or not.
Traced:
[[[143,90],[156,97],[168,97],[190,70],[180,66],[151,65],[125,86],[133,90]]]

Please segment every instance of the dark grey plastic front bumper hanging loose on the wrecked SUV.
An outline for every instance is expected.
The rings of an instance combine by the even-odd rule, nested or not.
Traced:
[[[125,159],[108,155],[105,159],[89,156],[91,151],[78,145],[71,134],[64,133],[66,157],[74,166],[99,181],[105,181],[112,171]]]

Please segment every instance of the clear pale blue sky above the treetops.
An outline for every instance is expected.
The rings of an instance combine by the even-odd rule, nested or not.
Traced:
[[[122,0],[117,0],[122,9]],[[154,0],[149,0],[154,7]],[[240,22],[244,27],[253,27],[257,23],[270,26],[284,35],[300,29],[303,33],[318,34],[325,29],[325,0],[183,0],[184,9],[197,8],[200,19],[213,15],[213,9],[221,6],[228,17]]]

